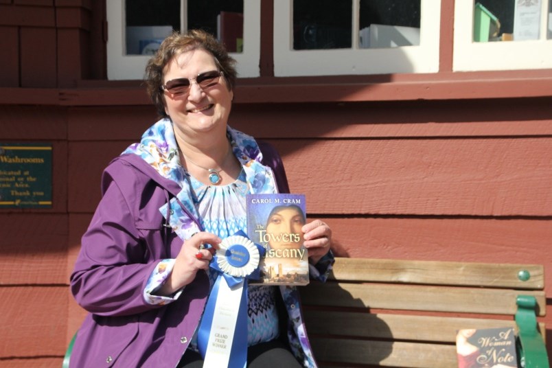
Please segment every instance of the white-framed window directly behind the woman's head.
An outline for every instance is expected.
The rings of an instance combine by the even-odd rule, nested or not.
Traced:
[[[142,79],[163,38],[198,27],[225,41],[240,77],[259,76],[260,0],[108,0],[106,13],[109,80]]]

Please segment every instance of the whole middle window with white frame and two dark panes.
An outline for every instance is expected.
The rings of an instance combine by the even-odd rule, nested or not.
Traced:
[[[440,1],[278,0],[275,76],[435,73]]]

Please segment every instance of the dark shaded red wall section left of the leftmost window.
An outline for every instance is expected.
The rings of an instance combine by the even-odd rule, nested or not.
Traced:
[[[102,34],[102,1],[14,0],[0,1],[0,46],[6,65],[0,71],[1,87],[73,87],[82,78],[100,77],[90,59],[91,39]],[[98,57],[100,59],[98,59]]]

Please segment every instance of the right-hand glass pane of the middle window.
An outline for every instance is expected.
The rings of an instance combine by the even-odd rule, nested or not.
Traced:
[[[419,45],[419,24],[420,0],[360,0],[359,47]]]

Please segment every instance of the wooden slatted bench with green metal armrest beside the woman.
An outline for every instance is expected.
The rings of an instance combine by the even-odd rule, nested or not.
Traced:
[[[337,258],[300,290],[321,367],[457,368],[457,330],[508,326],[525,368],[549,367],[540,265]]]

